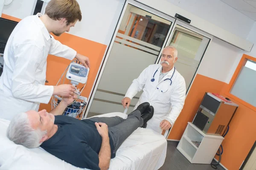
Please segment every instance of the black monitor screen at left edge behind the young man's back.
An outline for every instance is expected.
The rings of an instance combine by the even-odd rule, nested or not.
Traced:
[[[0,42],[6,43],[17,22],[0,17]]]

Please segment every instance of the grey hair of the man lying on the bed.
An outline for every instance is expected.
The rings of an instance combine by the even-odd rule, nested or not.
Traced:
[[[40,140],[46,133],[40,129],[33,129],[26,113],[17,114],[7,129],[7,137],[11,141],[27,148],[39,147],[41,145]]]

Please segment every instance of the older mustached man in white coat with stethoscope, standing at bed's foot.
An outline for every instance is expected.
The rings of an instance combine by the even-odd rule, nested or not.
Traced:
[[[147,128],[159,133],[173,126],[185,101],[186,84],[174,67],[176,61],[177,49],[173,46],[164,48],[160,65],[154,64],[145,68],[134,79],[122,99],[122,105],[129,107],[131,99],[143,90],[135,108],[143,102],[149,102],[154,107],[154,116],[148,121]]]

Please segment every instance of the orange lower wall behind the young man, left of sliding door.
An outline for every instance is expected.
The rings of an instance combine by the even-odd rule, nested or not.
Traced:
[[[6,14],[2,14],[2,17],[9,20],[15,20],[17,22],[20,21],[19,18],[11,17]],[[96,74],[98,73],[99,66],[104,56],[107,45],[90,41],[68,33],[64,33],[60,37],[54,37],[56,40],[59,40],[62,44],[75,49],[79,54],[89,57],[90,72],[88,75],[87,84],[82,93],[82,96],[89,97],[90,91],[93,87],[94,80],[96,79]],[[46,85],[56,85],[59,78],[61,77],[61,74],[65,71],[69,63],[70,60],[68,59],[49,55],[47,58],[46,73],[46,79],[49,81],[49,83],[46,83]],[[80,85],[79,87],[81,88],[82,86]],[[39,110],[41,109],[47,109],[47,111],[50,111],[51,105],[41,104]]]

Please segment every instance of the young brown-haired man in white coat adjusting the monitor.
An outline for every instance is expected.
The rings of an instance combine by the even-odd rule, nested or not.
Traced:
[[[52,95],[73,96],[72,85],[50,86],[46,81],[47,56],[78,59],[86,67],[89,59],[62,45],[49,33],[60,36],[81,21],[76,0],[51,0],[45,14],[24,18],[17,24],[4,51],[4,68],[0,78],[0,118],[11,120],[17,113],[38,111]],[[58,65],[55,65],[58,68]],[[51,73],[54,74],[54,73]]]

